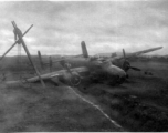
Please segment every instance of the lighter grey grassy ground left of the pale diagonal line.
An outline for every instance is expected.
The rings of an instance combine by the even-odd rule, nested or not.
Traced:
[[[98,120],[98,121],[97,121]],[[6,86],[0,90],[1,132],[120,131],[65,86]]]

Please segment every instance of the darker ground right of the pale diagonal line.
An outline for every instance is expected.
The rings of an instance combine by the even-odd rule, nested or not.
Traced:
[[[87,95],[126,131],[168,131],[168,63],[138,61],[132,65],[143,71],[130,70],[129,79],[119,86],[91,84]]]

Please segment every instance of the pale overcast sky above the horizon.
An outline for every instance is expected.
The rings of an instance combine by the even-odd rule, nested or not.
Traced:
[[[159,45],[153,54],[168,54],[168,1],[1,1],[0,54],[14,42],[12,20],[22,32],[34,25],[24,37],[31,54],[81,54],[81,41],[90,54]]]

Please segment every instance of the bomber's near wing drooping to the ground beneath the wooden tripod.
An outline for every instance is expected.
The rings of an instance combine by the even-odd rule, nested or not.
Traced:
[[[85,68],[85,66],[81,66],[81,68],[74,68],[74,69],[71,69],[71,71],[75,71],[77,73],[81,73],[81,72],[87,72],[88,69]],[[52,78],[57,78],[57,76],[61,76],[63,75],[64,73],[66,73],[67,70],[60,70],[60,71],[55,71],[55,72],[51,72],[51,73],[46,73],[46,74],[41,74],[41,79],[42,80],[49,80],[49,79],[52,79]],[[7,81],[6,83],[7,84],[13,84],[13,83],[27,83],[27,82],[30,82],[30,83],[33,83],[33,82],[36,82],[36,81],[40,81],[39,76],[33,76],[33,78],[29,78],[29,79],[24,79],[24,80],[18,80],[18,81]]]

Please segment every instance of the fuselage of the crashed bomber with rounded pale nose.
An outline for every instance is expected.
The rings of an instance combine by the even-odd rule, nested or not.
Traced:
[[[88,69],[90,75],[96,76],[98,79],[112,79],[112,82],[117,81],[122,83],[126,78],[125,71],[118,66],[113,65],[111,61],[102,62],[90,58],[67,58],[65,61],[70,64],[70,69],[85,66]]]

